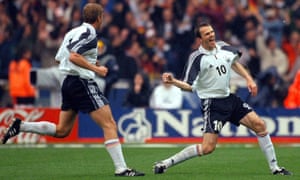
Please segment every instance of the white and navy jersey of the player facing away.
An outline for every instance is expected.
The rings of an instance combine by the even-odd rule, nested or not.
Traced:
[[[95,77],[95,72],[79,67],[69,60],[70,52],[76,52],[92,64],[97,60],[97,34],[95,28],[83,23],[81,26],[70,30],[58,49],[55,60],[59,61],[59,69],[67,75],[78,75],[85,79]]]

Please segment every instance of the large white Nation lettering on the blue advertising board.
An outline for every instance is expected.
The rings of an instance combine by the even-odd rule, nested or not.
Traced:
[[[191,118],[191,110],[178,110],[177,113],[180,115],[179,118],[177,118],[174,114],[168,111],[154,111],[154,114],[156,115],[156,131],[153,132],[154,137],[168,137],[168,128],[172,128],[172,130],[174,130],[182,137],[202,136],[202,117]],[[277,117],[276,120],[272,119],[271,117],[261,118],[265,121],[267,130],[270,134],[275,134],[276,136],[300,135],[300,117],[298,116],[280,116]],[[191,123],[189,121],[191,121]],[[247,137],[255,135],[255,133],[252,130],[249,130],[245,126],[241,125],[237,127],[236,130],[233,130],[231,126],[232,125],[230,125],[230,123],[226,123],[220,135],[224,137]]]

